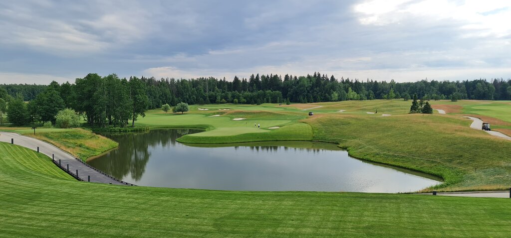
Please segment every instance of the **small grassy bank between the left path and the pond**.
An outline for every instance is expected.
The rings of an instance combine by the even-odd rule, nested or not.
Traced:
[[[37,128],[35,135],[34,130],[29,127],[1,127],[0,130],[19,133],[51,143],[83,161],[119,145],[115,141],[82,128]]]

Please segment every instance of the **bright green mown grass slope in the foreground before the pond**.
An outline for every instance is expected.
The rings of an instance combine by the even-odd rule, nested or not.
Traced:
[[[79,182],[0,143],[3,237],[505,237],[508,199],[234,192]]]

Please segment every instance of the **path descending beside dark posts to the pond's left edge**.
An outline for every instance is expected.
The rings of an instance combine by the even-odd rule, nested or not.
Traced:
[[[73,155],[57,148],[50,143],[43,142],[31,137],[21,136],[16,133],[0,132],[0,141],[11,143],[11,139],[14,139],[15,145],[27,147],[35,151],[37,151],[37,147],[39,147],[39,152],[48,155],[50,158],[52,157],[52,154],[54,154],[57,164],[60,160],[63,168],[66,168],[67,165],[69,165],[69,171],[74,177],[76,177],[76,170],[78,170],[78,177],[83,181],[87,181],[88,176],[90,175],[91,182],[111,182],[112,184],[131,185],[130,183],[117,180],[95,168],[88,166],[81,160],[75,158]]]

